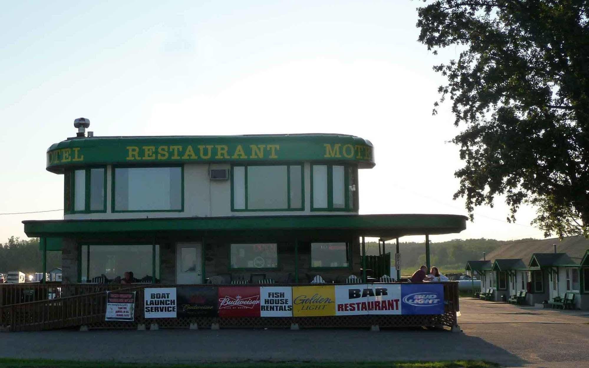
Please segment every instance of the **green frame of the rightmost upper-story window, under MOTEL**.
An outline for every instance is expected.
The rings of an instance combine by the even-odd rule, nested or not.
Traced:
[[[327,207],[315,207],[315,182],[313,173],[315,167],[325,166],[327,168]],[[343,207],[333,205],[333,167],[343,167]],[[311,211],[358,211],[358,167],[346,164],[312,164],[311,165]]]

